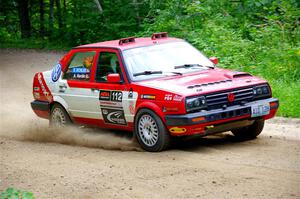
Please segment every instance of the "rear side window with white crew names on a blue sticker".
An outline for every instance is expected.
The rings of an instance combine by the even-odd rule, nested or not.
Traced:
[[[64,79],[89,81],[96,52],[78,52],[72,57]]]

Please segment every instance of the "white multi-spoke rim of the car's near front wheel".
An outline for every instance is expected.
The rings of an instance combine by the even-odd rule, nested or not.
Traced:
[[[142,142],[151,147],[158,141],[158,127],[155,120],[150,115],[143,115],[139,119],[138,133]]]

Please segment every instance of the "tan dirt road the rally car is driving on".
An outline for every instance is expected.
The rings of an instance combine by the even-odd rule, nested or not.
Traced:
[[[0,50],[0,192],[36,198],[300,198],[300,120],[256,140],[229,133],[143,152],[122,132],[51,131],[30,108],[32,77],[62,53]]]

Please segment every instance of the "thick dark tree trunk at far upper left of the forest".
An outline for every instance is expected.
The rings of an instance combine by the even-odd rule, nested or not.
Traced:
[[[31,23],[28,9],[29,0],[18,0],[18,13],[21,26],[21,38],[29,38],[31,36]]]

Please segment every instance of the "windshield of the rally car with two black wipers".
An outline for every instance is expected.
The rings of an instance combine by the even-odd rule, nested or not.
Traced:
[[[182,75],[214,67],[208,58],[184,41],[128,49],[123,56],[133,81]]]

